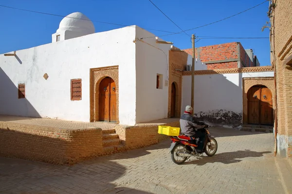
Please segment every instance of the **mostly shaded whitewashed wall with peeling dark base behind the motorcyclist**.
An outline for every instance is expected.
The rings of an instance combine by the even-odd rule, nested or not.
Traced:
[[[214,119],[242,119],[242,78],[274,77],[274,72],[195,75],[194,113]],[[191,76],[183,76],[182,111],[191,104]]]

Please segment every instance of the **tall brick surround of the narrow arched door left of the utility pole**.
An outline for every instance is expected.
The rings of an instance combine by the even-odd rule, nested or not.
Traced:
[[[169,51],[169,81],[168,81],[168,113],[171,115],[171,84],[176,87],[175,117],[181,116],[183,70],[187,65],[188,54],[180,51]]]

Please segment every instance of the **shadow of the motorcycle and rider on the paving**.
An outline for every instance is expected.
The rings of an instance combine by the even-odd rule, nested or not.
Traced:
[[[237,163],[241,162],[242,160],[238,160],[241,158],[248,158],[248,157],[262,157],[264,154],[272,153],[271,151],[264,151],[264,152],[256,152],[256,151],[250,151],[250,150],[239,150],[234,152],[223,152],[219,154],[215,154],[212,157],[209,156],[201,156],[198,157],[194,161],[185,162],[183,165],[187,164],[197,164],[199,166],[204,165],[206,163],[215,163],[220,162],[223,164],[230,164],[230,163]],[[192,160],[192,158],[190,158]]]

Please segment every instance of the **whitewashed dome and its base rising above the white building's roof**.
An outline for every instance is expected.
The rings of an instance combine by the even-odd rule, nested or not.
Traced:
[[[59,29],[52,34],[52,42],[95,33],[92,21],[80,12],[74,12],[64,17],[59,24]]]

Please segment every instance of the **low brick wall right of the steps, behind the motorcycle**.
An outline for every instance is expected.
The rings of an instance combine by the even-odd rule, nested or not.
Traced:
[[[180,122],[165,123],[161,125],[180,127]],[[158,133],[159,125],[141,126],[117,126],[116,133],[124,141],[127,149],[135,149],[158,144],[160,141],[169,138],[167,135]]]

